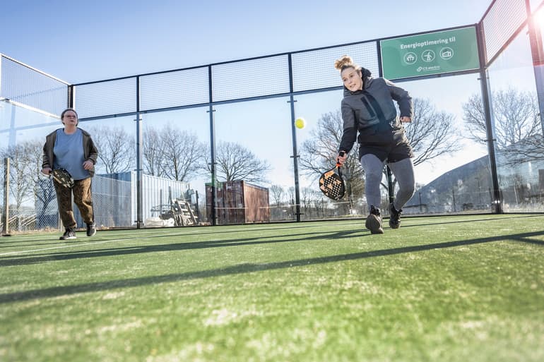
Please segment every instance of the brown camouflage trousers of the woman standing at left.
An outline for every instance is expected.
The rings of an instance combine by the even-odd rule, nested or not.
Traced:
[[[95,221],[93,213],[93,196],[90,191],[91,178],[83,180],[74,180],[73,188],[61,186],[57,181],[53,181],[55,191],[57,191],[57,204],[59,205],[59,214],[62,224],[66,229],[77,227],[76,219],[73,217],[73,203],[78,206],[83,222],[92,224]]]

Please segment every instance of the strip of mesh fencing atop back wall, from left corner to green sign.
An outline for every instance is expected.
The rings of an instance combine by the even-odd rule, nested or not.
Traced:
[[[377,42],[361,42],[84,83],[74,87],[75,106],[81,119],[135,113],[138,79],[139,111],[285,95],[291,91],[290,73],[293,92],[319,91],[339,86],[334,61],[343,54],[379,76],[377,50]]]

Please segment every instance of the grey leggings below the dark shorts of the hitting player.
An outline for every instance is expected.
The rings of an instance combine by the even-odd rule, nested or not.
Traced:
[[[367,153],[361,157],[361,166],[362,169],[365,170],[365,195],[367,196],[369,211],[371,205],[379,207],[382,203],[379,186],[382,182],[382,176],[384,175],[384,165],[385,162],[380,161],[380,159],[375,155],[372,155],[372,153]],[[412,159],[401,159],[398,162],[388,163],[387,166],[389,166],[391,172],[393,172],[398,184],[398,191],[393,205],[396,210],[401,210],[404,204],[408,203],[408,200],[410,200],[415,193]]]

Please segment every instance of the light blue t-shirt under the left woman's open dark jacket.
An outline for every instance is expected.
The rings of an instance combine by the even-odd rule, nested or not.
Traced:
[[[83,180],[90,177],[89,171],[83,169],[83,133],[77,128],[76,132],[67,135],[64,129],[57,130],[57,140],[53,147],[55,155],[53,167],[66,169],[74,180]]]

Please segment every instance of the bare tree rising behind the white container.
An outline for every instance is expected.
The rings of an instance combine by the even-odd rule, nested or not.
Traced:
[[[176,181],[191,181],[201,169],[206,147],[195,134],[168,125],[160,131],[160,174]]]

